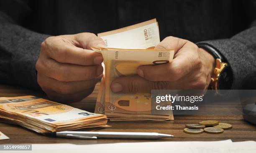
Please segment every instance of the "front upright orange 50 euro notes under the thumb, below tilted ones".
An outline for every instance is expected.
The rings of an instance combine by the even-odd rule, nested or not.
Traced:
[[[122,113],[123,117],[126,118],[133,117],[130,120],[135,119],[135,117],[137,119],[152,120],[150,115],[164,115],[159,116],[163,120],[172,119],[171,110],[161,113],[157,112],[157,114],[154,113],[150,93],[113,93],[110,90],[110,85],[117,78],[136,75],[137,68],[141,65],[157,65],[172,62],[174,50],[117,48],[93,48],[93,50],[98,52],[105,50],[108,52],[108,61],[105,63],[105,78],[101,82],[100,95],[98,95],[97,100],[100,104],[100,108],[98,107],[97,109],[101,109],[99,113],[102,113],[104,110],[105,115],[108,115],[110,120],[114,120],[112,117],[115,113],[118,116]],[[105,97],[103,98],[102,96]],[[102,108],[103,106],[104,109]]]

